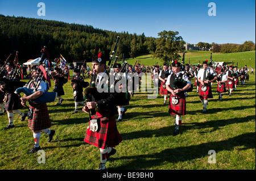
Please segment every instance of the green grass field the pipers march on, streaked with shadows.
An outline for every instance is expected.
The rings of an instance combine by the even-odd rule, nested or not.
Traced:
[[[187,52],[191,63],[209,60],[209,53]],[[127,60],[153,65],[156,60],[144,55]],[[213,61],[238,62],[255,68],[255,51],[213,54]],[[160,63],[158,63],[160,65]],[[89,79],[87,80],[89,81]],[[193,81],[193,79],[192,79]],[[216,83],[213,99],[209,99],[207,114],[201,113],[203,104],[194,89],[187,98],[187,115],[182,117],[180,134],[173,136],[174,117],[168,114],[159,94],[147,99],[147,93],[136,93],[126,106],[124,121],[117,123],[123,137],[116,146],[117,153],[106,163],[109,170],[255,170],[255,75],[245,86],[238,85],[232,96],[226,93],[218,102]],[[51,89],[52,90],[52,89]],[[72,115],[74,103],[71,81],[64,85],[61,106],[48,103],[51,129],[56,131],[51,143],[42,134],[40,146],[46,153],[46,163],[38,163],[37,154],[27,155],[33,144],[32,132],[26,121],[15,115],[15,127],[4,130],[7,115],[0,117],[1,170],[88,170],[97,169],[99,149],[83,139],[88,127],[88,114],[81,111]],[[168,99],[169,100],[169,99]],[[21,111],[26,111],[23,108]],[[216,163],[209,163],[209,150],[216,152]]]

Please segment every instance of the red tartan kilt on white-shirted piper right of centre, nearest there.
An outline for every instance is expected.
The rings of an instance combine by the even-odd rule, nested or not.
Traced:
[[[179,98],[179,103],[172,104],[172,97],[174,95],[170,94],[170,103],[169,103],[169,113],[172,115],[186,115],[186,99],[184,92],[181,94],[177,94]]]

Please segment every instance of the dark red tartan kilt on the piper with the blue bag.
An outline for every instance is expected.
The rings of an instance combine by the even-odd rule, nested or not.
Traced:
[[[51,127],[52,123],[49,119],[47,104],[31,103],[32,119],[28,119],[28,128],[32,131],[40,131]]]

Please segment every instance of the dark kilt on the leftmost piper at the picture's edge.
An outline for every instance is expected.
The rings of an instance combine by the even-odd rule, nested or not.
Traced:
[[[5,110],[6,111],[19,110],[23,107],[24,106],[22,106],[21,100],[17,94],[15,94],[15,93],[7,94],[7,99],[5,102]]]

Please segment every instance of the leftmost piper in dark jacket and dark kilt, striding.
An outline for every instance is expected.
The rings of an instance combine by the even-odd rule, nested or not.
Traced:
[[[20,121],[24,121],[27,117],[27,113],[23,113],[19,111],[19,109],[23,108],[22,104],[19,101],[19,96],[14,93],[16,90],[16,87],[19,85],[19,80],[13,80],[13,70],[14,64],[13,62],[7,62],[5,68],[6,68],[6,74],[4,76],[5,78],[5,84],[1,85],[1,91],[5,92],[5,110],[7,112],[7,116],[9,119],[9,124],[4,129],[10,129],[14,127],[13,119],[14,119],[14,113],[20,115],[22,119]]]

